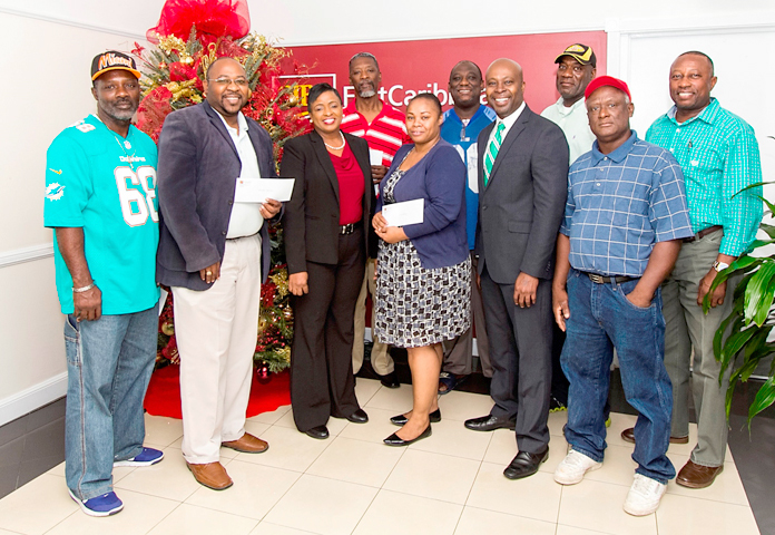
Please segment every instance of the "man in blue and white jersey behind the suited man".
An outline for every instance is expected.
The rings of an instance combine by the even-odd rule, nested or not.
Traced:
[[[469,60],[459,61],[450,72],[449,90],[454,99],[454,107],[444,111],[444,123],[441,125],[441,137],[458,149],[460,157],[468,167],[465,184],[465,231],[471,265],[477,269],[478,259],[473,254],[473,242],[477,236],[477,218],[479,216],[479,186],[477,184],[478,150],[477,137],[484,127],[496,120],[492,108],[481,105],[483,88],[482,71],[477,64]],[[439,377],[439,393],[447,393],[464,380],[472,370],[473,330],[477,330],[477,350],[482,364],[484,377],[492,377],[489,343],[484,329],[484,310],[482,294],[477,285],[477,279],[471,278],[471,329],[460,337],[444,343],[444,367]]]

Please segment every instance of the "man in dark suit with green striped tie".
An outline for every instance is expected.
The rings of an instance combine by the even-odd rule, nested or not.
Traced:
[[[493,373],[489,415],[465,427],[516,429],[503,475],[527,477],[549,455],[551,278],[568,178],[562,130],[524,104],[522,68],[498,59],[484,78],[498,119],[479,135],[479,255]]]

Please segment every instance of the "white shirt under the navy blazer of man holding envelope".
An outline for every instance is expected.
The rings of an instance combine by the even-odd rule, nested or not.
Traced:
[[[214,108],[215,109],[215,108]],[[247,120],[242,111],[237,115],[237,128],[232,128],[224,116],[216,109],[216,114],[224,121],[224,126],[232,136],[234,146],[237,148],[237,155],[239,156],[239,162],[242,163],[242,168],[239,171],[238,178],[261,178],[261,171],[258,169],[258,158],[256,156],[256,149],[251,142],[251,136],[247,135]],[[234,203],[232,205],[232,215],[228,218],[228,230],[226,231],[226,239],[233,240],[235,237],[252,236],[261,231],[261,226],[264,224],[264,216],[261,215],[261,204],[258,203]]]

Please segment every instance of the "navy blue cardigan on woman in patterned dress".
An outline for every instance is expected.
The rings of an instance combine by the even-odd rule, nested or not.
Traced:
[[[382,210],[385,183],[414,147],[404,145],[380,183],[376,211]],[[396,203],[424,198],[423,222],[403,227],[428,270],[455,265],[469,255],[465,234],[465,165],[458,150],[440,139],[410,168],[393,189]]]

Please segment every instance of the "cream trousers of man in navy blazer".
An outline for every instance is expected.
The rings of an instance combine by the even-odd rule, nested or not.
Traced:
[[[261,304],[261,235],[226,241],[220,279],[197,292],[173,286],[180,351],[183,456],[215,463],[245,432]]]

